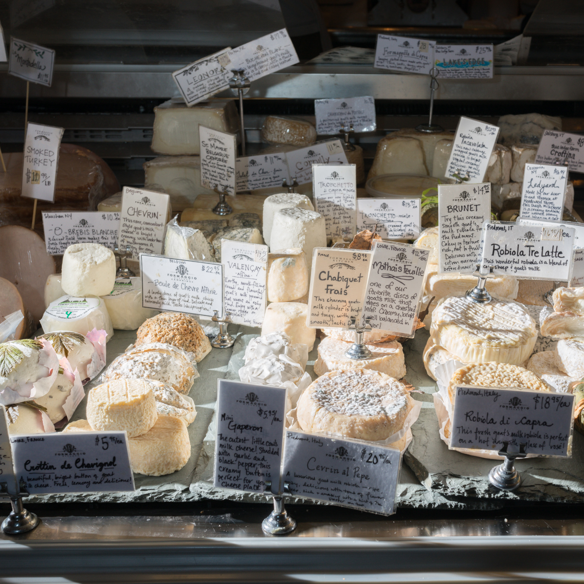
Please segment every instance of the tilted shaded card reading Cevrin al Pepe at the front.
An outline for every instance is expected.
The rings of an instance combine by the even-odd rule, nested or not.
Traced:
[[[286,430],[282,477],[293,495],[391,515],[400,467],[399,450]]]

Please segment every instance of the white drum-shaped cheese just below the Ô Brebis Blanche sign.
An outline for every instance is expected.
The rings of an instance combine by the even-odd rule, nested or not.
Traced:
[[[105,296],[116,283],[116,258],[99,244],[73,244],[65,249],[61,287],[70,296]]]

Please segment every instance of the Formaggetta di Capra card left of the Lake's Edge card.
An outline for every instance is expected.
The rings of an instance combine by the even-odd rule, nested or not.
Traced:
[[[390,71],[429,75],[433,67],[435,47],[436,43],[432,40],[378,34],[373,66]]]

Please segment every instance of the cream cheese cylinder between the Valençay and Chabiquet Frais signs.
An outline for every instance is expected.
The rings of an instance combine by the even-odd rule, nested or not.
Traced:
[[[302,248],[278,249],[267,255],[267,300],[293,302],[308,292],[308,265]]]

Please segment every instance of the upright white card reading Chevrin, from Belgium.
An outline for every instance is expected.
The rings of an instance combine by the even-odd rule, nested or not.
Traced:
[[[140,253],[162,253],[171,197],[148,189],[124,186],[121,195],[120,249],[129,245],[134,259]]]

